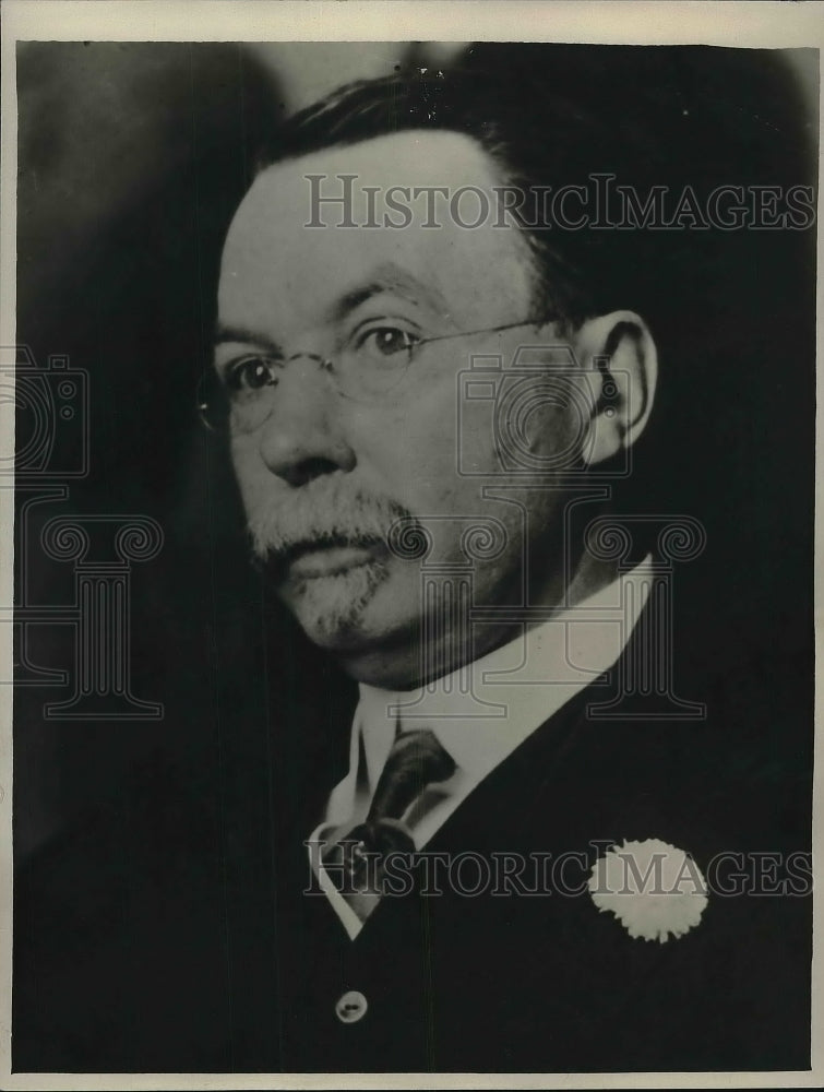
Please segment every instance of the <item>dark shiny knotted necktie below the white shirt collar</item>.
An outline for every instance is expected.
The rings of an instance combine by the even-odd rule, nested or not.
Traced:
[[[380,898],[381,859],[392,852],[415,850],[402,817],[429,785],[446,781],[455,769],[430,728],[396,736],[366,820],[334,843],[323,858],[336,887],[361,919]]]

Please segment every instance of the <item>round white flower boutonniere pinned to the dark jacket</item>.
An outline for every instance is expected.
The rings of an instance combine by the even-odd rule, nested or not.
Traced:
[[[610,911],[631,937],[682,937],[707,905],[706,880],[683,850],[657,838],[614,845],[595,863],[589,893],[599,911]]]

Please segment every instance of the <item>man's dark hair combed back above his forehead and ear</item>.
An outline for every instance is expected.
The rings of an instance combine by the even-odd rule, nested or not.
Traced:
[[[347,84],[287,121],[263,149],[258,167],[418,130],[470,136],[494,161],[501,185],[526,194],[517,219],[534,259],[536,312],[577,325],[592,314],[632,306],[616,248],[606,246],[622,240],[604,237],[621,233],[546,225],[536,189],[584,185],[604,170],[628,179],[631,142],[617,141],[593,110],[548,87],[545,71],[521,67],[513,83],[500,52],[478,64],[470,50],[447,69],[414,68]]]

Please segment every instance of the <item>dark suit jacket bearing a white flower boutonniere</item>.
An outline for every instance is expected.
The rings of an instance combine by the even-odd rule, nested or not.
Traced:
[[[656,838],[710,883],[729,887],[743,862],[762,889],[788,885],[710,891],[701,923],[666,943],[631,938],[586,891],[469,897],[447,885],[384,899],[350,941],[325,897],[302,893],[302,842],[339,773],[321,745],[284,731],[253,816],[242,788],[235,810],[228,796],[210,810],[196,779],[155,770],[19,878],[14,1068],[809,1068],[811,899],[803,858],[786,866],[809,848],[799,725],[811,722],[797,686],[808,669],[774,656],[689,670],[681,696],[706,701],[701,722],[593,720],[605,693],[589,688],[427,846],[584,853],[586,868],[570,858],[566,871],[580,882],[593,843]],[[334,726],[342,739],[350,715]],[[713,871],[723,852],[749,856]],[[784,863],[759,865],[763,853]],[[473,882],[470,866],[463,877]],[[335,1012],[346,990],[368,1001],[348,1024]]]

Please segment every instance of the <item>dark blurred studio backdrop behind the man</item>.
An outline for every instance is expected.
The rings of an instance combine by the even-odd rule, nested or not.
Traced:
[[[164,719],[47,723],[44,703],[69,690],[17,687],[19,860],[126,791],[174,798],[184,783],[231,838],[222,817],[232,802],[268,791],[273,726],[304,722],[309,733],[326,707],[342,723],[350,715],[351,686],[267,603],[248,565],[195,387],[220,240],[258,145],[310,92],[437,60],[443,47],[278,48],[19,48],[17,341],[41,367],[69,355],[91,395],[89,473],[38,519],[146,514],[165,534],[158,557],[134,566],[131,619],[133,693],[163,702]],[[524,64],[542,68],[617,132],[642,126],[672,182],[816,181],[813,50],[485,46],[473,57],[497,58],[513,82]],[[677,642],[677,654],[724,674],[780,650],[811,695],[815,228],[661,233],[650,254],[648,280],[666,292],[646,310],[626,306],[649,319],[661,387],[626,503],[706,527],[706,550],[676,583],[703,619],[691,639],[701,648]],[[25,439],[24,411],[17,427]],[[16,567],[32,602],[71,602],[71,565],[46,558],[35,536]],[[28,655],[70,666],[68,630],[33,628]],[[788,735],[787,752],[809,741]]]

